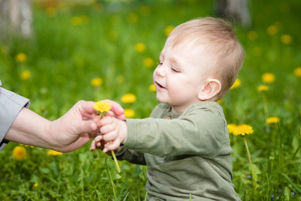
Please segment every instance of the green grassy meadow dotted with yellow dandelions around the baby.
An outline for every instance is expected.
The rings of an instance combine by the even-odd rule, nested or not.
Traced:
[[[49,120],[79,100],[102,99],[119,102],[128,116],[148,117],[159,103],[149,87],[169,31],[216,16],[213,0],[70,2],[34,2],[33,39],[0,43],[3,87]],[[249,8],[252,26],[235,23],[246,49],[240,83],[219,102],[228,124],[254,131],[230,134],[232,182],[242,200],[300,200],[301,2],[256,0]],[[121,102],[128,93],[135,102]],[[113,160],[89,146],[56,155],[9,143],[0,152],[1,200],[144,200],[146,166],[119,161],[117,174]]]

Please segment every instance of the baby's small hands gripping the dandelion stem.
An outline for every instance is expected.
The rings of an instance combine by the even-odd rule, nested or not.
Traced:
[[[102,149],[101,141],[104,141],[103,152],[108,150],[116,150],[119,148],[121,143],[126,142],[127,137],[127,125],[126,121],[121,121],[112,117],[101,118],[98,123],[100,126],[100,132],[103,135],[97,136],[93,140],[90,151],[94,150],[96,147]]]

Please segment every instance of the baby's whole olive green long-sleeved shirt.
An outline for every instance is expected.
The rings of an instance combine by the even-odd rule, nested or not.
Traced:
[[[229,133],[214,101],[183,113],[157,105],[150,118],[126,119],[128,136],[119,160],[147,165],[148,200],[240,200],[233,178]]]

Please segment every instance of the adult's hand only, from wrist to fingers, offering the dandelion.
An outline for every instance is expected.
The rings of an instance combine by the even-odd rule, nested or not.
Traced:
[[[109,102],[112,109],[108,116],[125,119],[123,108],[116,102]],[[95,123],[97,111],[93,109],[95,102],[79,101],[61,118],[52,121],[49,125],[49,134],[52,136],[54,150],[70,152],[88,143],[100,134]]]

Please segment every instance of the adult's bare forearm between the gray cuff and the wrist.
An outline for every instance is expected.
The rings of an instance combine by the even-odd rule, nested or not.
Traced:
[[[51,121],[22,108],[6,133],[4,140],[51,149],[49,125]]]

